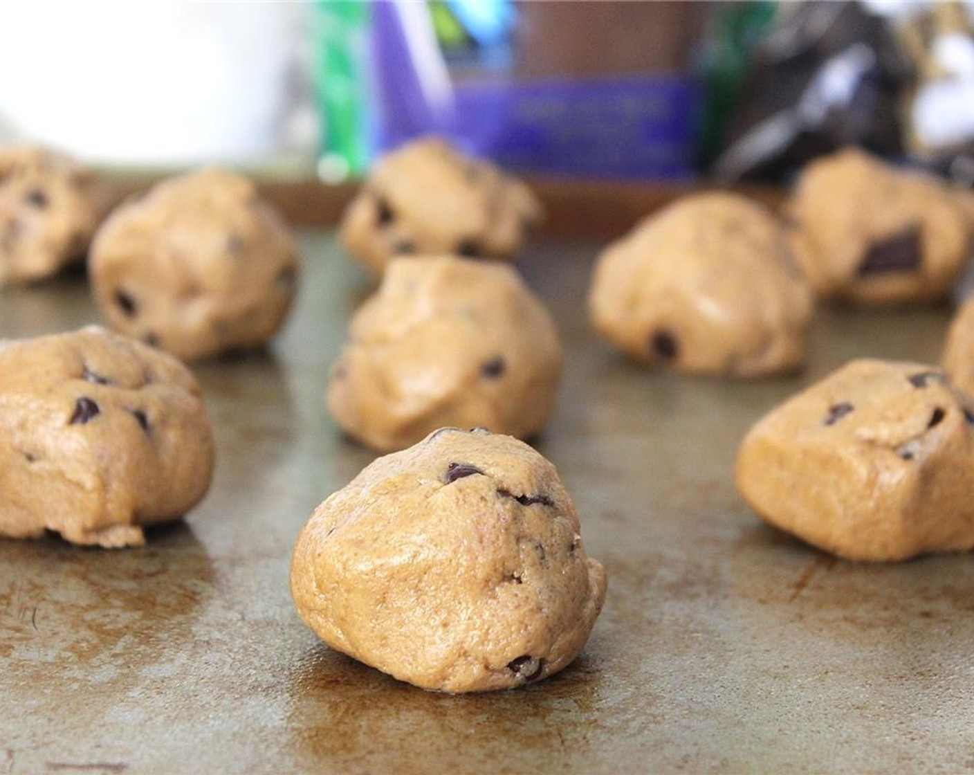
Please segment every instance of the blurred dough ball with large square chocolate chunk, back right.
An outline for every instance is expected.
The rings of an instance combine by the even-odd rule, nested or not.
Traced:
[[[787,206],[796,254],[822,298],[863,304],[929,301],[954,288],[970,220],[943,182],[862,151],[813,162]]]

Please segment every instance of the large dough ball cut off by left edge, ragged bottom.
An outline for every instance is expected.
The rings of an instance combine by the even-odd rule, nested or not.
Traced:
[[[141,545],[212,467],[200,388],[166,353],[94,326],[0,343],[0,535]]]

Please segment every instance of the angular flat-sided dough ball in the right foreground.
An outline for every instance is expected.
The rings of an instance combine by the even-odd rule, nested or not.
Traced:
[[[737,486],[768,523],[850,560],[974,548],[974,399],[927,366],[853,361],[747,434]]]

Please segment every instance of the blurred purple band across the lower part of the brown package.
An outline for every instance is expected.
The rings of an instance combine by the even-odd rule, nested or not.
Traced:
[[[521,172],[686,178],[699,95],[683,76],[459,84],[439,121],[395,122],[396,111],[386,111],[381,144],[432,132]]]

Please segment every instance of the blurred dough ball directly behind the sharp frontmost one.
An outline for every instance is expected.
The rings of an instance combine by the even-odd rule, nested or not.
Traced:
[[[352,320],[327,405],[384,451],[443,425],[528,438],[547,422],[560,375],[554,323],[509,266],[397,258]]]

